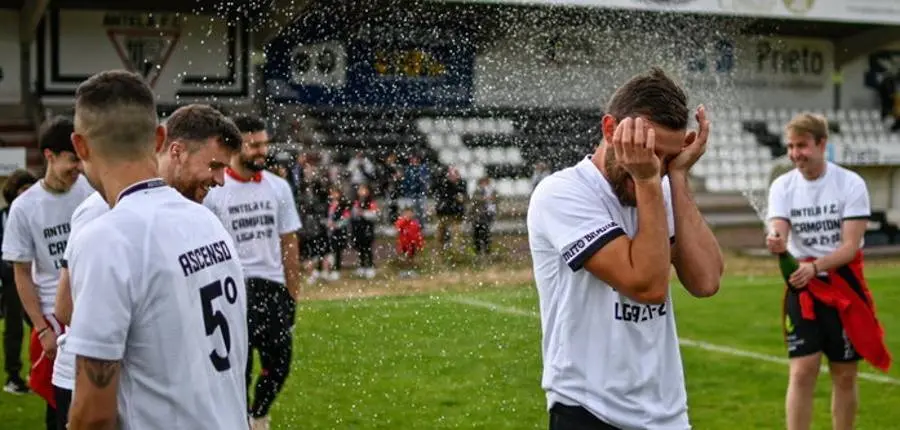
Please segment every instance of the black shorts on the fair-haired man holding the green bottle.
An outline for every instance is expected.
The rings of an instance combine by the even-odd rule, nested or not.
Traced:
[[[804,319],[799,292],[787,290],[784,298],[784,340],[788,357],[821,352],[830,362],[859,361],[862,357],[847,338],[837,309],[813,298],[813,310],[815,319]]]

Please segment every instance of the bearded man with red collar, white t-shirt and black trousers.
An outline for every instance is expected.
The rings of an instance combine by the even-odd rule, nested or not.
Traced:
[[[269,147],[266,123],[253,115],[233,119],[241,130],[243,146],[226,169],[225,185],[210,190],[203,204],[234,237],[244,267],[250,330],[248,388],[252,385],[254,349],[262,365],[250,418],[254,429],[268,429],[269,408],[291,367],[300,288],[297,231],[301,224],[290,185],[265,170]]]

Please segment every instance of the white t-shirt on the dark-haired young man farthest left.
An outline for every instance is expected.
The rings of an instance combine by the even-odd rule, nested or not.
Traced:
[[[63,252],[69,239],[72,212],[94,189],[79,175],[69,191],[53,194],[42,181],[13,200],[3,232],[3,259],[31,262],[31,278],[38,288],[44,315],[53,313]]]

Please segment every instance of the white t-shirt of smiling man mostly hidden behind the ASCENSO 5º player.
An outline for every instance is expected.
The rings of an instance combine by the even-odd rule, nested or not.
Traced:
[[[109,204],[103,199],[98,192],[94,192],[86,198],[72,213],[71,228],[69,231],[69,240],[74,240],[78,232],[90,221],[99,218],[100,215],[109,212]],[[66,247],[63,253],[64,260],[68,260],[71,255],[71,248]],[[68,263],[65,264],[68,266]],[[69,291],[71,293],[71,290]],[[66,331],[69,327],[66,327]],[[68,333],[63,333],[56,338],[56,359],[53,360],[53,385],[59,388],[72,390],[75,388],[75,355],[66,349],[66,339]]]

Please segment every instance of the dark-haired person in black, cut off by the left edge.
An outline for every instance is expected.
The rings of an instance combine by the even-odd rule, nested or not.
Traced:
[[[6,229],[6,219],[9,217],[9,206],[13,200],[24,193],[29,187],[37,183],[37,178],[25,169],[14,171],[6,179],[3,185],[3,199],[7,206],[0,209],[0,242],[3,241],[3,230]],[[13,266],[8,261],[0,261],[0,282],[3,283],[0,294],[0,312],[6,319],[3,328],[3,365],[6,370],[6,384],[3,391],[11,394],[25,394],[28,385],[22,379],[22,340],[25,335],[25,325],[31,325],[28,316],[22,309],[19,293],[16,291]]]

